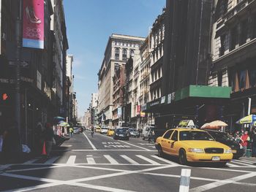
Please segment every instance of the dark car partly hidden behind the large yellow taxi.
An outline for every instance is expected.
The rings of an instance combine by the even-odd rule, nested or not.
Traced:
[[[243,147],[235,141],[230,135],[228,135],[225,132],[220,132],[220,131],[213,131],[213,130],[206,130],[209,134],[211,134],[211,137],[214,137],[214,139],[217,142],[221,142],[227,146],[229,146],[232,150],[233,153],[233,158],[241,158],[244,154]]]

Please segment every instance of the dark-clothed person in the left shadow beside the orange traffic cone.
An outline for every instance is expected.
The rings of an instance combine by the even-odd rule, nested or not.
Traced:
[[[50,123],[46,123],[44,139],[45,139],[46,156],[47,158],[49,158],[50,152],[53,147],[53,143],[55,142],[53,128],[51,127]]]

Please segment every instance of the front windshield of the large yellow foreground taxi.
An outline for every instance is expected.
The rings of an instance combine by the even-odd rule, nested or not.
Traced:
[[[180,141],[184,140],[203,140],[203,141],[214,141],[214,139],[205,131],[180,131]]]

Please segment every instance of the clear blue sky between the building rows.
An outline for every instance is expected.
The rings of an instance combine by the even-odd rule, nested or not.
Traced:
[[[163,7],[165,0],[64,0],[79,116],[89,107],[91,93],[97,93],[97,73],[108,37],[146,37]]]

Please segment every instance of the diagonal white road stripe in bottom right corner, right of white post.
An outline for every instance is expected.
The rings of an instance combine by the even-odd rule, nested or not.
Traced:
[[[255,176],[256,176],[256,172],[251,172],[251,173],[248,173],[248,174],[242,174],[238,177],[233,177],[233,178],[230,178],[230,179],[227,179],[227,180],[221,180],[221,181],[217,181],[217,182],[214,182],[214,183],[209,183],[209,184],[206,184],[206,185],[202,185],[202,186],[199,186],[197,188],[192,188],[192,189],[189,190],[189,192],[206,191],[206,190],[210,190],[212,188],[218,188],[222,185],[226,185],[227,183],[234,183],[234,182],[237,182],[239,180],[246,180],[247,178],[255,177]]]

